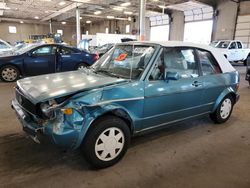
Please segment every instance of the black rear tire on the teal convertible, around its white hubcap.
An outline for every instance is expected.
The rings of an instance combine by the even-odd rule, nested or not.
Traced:
[[[227,103],[227,105],[228,105],[229,101],[231,103],[230,110],[227,110],[226,114],[222,114],[222,109],[225,108],[224,104]],[[217,109],[215,110],[215,112],[210,114],[210,118],[214,121],[214,123],[218,123],[218,124],[225,123],[230,118],[230,116],[232,114],[234,103],[235,103],[235,101],[234,101],[233,97],[231,95],[227,95],[220,102],[220,104],[217,107]]]

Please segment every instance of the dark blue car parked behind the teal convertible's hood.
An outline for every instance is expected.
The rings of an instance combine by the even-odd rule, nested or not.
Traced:
[[[60,44],[34,44],[0,57],[0,79],[13,82],[20,76],[72,71],[92,65],[99,56]]]

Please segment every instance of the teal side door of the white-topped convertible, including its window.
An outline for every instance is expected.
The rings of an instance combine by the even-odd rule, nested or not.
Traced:
[[[164,48],[145,81],[142,129],[203,113],[199,74],[193,48]]]

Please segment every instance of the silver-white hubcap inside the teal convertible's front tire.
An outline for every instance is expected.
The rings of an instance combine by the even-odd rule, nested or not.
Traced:
[[[108,128],[97,138],[95,154],[102,161],[113,160],[121,153],[124,141],[124,134],[121,129]]]

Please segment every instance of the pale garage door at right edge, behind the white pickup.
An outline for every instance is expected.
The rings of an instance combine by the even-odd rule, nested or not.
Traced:
[[[235,40],[242,41],[246,48],[250,48],[250,15],[238,16]]]

